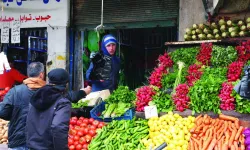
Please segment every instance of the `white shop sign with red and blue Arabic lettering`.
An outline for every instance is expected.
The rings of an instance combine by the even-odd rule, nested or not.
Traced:
[[[20,0],[21,1],[21,0]],[[20,2],[19,1],[19,2]],[[70,0],[21,1],[1,3],[0,23],[20,21],[21,28],[67,26]]]

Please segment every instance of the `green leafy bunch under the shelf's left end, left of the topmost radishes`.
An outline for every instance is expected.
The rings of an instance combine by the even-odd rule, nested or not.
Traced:
[[[180,48],[173,52],[170,52],[169,55],[171,59],[175,63],[174,68],[178,68],[177,62],[181,61],[186,66],[190,66],[196,62],[196,55],[199,52],[199,47],[188,47],[188,48]]]

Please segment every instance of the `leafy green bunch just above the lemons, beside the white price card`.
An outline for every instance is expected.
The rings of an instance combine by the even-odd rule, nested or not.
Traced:
[[[156,105],[158,112],[169,112],[174,110],[174,103],[171,99],[171,95],[162,91],[159,91],[155,96],[153,96],[151,104]]]

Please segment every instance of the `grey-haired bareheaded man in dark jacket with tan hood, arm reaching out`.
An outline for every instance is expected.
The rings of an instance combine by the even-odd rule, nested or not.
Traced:
[[[25,126],[31,96],[39,88],[45,86],[44,65],[40,62],[33,62],[28,66],[28,79],[24,84],[15,86],[4,97],[0,103],[0,118],[9,120],[8,147],[11,150],[23,150],[26,147]],[[84,90],[84,91],[83,91]],[[69,92],[66,97],[73,102],[89,94],[91,88],[79,92]],[[81,92],[82,91],[82,92]]]

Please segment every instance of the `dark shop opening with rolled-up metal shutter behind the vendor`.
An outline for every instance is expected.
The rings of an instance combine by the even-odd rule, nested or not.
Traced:
[[[116,36],[119,42],[121,84],[138,87],[146,81],[145,76],[154,68],[155,59],[164,51],[163,43],[178,39],[179,3],[175,0],[110,0],[104,1],[103,11],[101,8],[102,2],[98,0],[73,2],[74,88],[82,86],[79,83],[88,68],[89,54],[99,50],[98,42],[107,33]],[[101,14],[104,30],[98,37],[94,29],[101,23]]]

